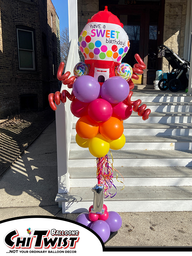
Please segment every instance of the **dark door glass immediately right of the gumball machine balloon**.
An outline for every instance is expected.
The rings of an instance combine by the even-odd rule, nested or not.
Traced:
[[[122,59],[122,62],[128,63],[133,67],[137,61],[135,60],[135,53],[139,53],[139,42],[140,42],[140,20],[141,15],[120,15],[120,21],[124,24],[124,30],[126,31],[130,49]]]

